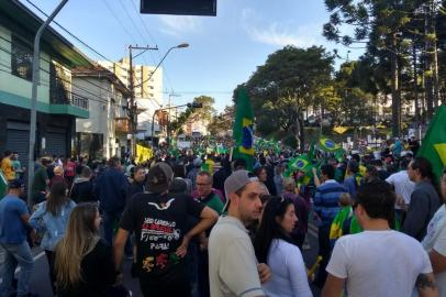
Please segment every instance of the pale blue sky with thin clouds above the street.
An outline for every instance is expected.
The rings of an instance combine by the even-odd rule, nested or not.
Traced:
[[[21,1],[32,9],[25,0]],[[59,2],[32,1],[48,14]],[[135,62],[156,65],[169,47],[189,43],[190,47],[175,50],[163,64],[164,100],[167,102],[168,92],[172,91],[181,95],[172,97],[175,105],[207,95],[215,98],[219,111],[231,105],[238,84],[245,82],[269,54],[287,44],[324,45],[337,48],[346,57],[348,48],[322,36],[322,25],[327,20],[323,0],[218,0],[216,16],[140,14],[140,0],[69,0],[56,18],[113,61],[127,56],[130,44],[158,45],[158,52],[146,53]],[[102,59],[62,34],[91,59]],[[352,50],[349,57],[360,54],[361,50]]]

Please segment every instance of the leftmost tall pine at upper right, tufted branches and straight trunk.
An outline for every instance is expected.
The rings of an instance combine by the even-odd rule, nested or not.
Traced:
[[[366,43],[371,53],[383,54],[390,65],[392,94],[392,134],[400,135],[401,130],[401,48],[400,37],[411,21],[410,11],[414,11],[415,0],[325,0],[332,13],[324,25],[323,34],[328,41],[350,46]],[[343,25],[354,26],[354,34],[342,33]]]

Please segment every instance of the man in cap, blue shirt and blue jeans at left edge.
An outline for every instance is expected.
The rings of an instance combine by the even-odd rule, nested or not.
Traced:
[[[29,293],[34,258],[26,235],[35,238],[30,226],[30,212],[20,198],[24,194],[24,183],[13,179],[9,183],[8,195],[0,200],[0,254],[4,255],[0,296],[14,294],[12,282],[16,266],[20,267],[16,296],[35,296]]]

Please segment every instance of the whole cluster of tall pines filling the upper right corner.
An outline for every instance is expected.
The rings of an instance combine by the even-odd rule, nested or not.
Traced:
[[[376,90],[364,85],[358,87],[373,95],[392,95],[394,135],[400,134],[401,107],[404,100],[414,100],[416,119],[420,119],[420,109],[425,109],[430,119],[441,98],[444,80],[438,75],[443,66],[438,65],[438,62],[442,62],[442,52],[437,51],[437,47],[442,44],[439,23],[445,1],[443,6],[439,2],[325,0],[331,16],[323,26],[323,35],[328,41],[346,46],[366,45],[367,51],[361,59],[371,66],[372,73],[380,75],[360,76],[359,82],[368,77],[381,79],[372,81]],[[354,33],[344,34],[343,29],[346,26],[353,28]],[[421,98],[420,91],[424,92],[425,99]]]

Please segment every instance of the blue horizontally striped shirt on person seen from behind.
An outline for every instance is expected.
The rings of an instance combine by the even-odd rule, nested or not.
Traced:
[[[316,188],[314,195],[314,211],[321,219],[321,226],[330,226],[341,210],[339,196],[345,188],[334,179],[325,180]]]

